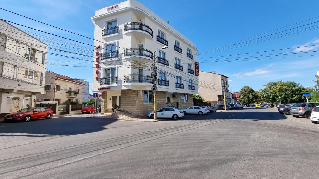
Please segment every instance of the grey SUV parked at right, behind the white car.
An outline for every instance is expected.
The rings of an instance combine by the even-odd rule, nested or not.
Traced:
[[[290,108],[290,114],[295,118],[298,118],[299,116],[310,118],[311,110],[318,105],[319,103],[296,103]]]

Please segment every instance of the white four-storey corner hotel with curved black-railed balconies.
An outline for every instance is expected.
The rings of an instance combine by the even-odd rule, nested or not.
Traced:
[[[101,93],[102,113],[117,106],[132,116],[153,110],[154,52],[158,108],[193,105],[198,88],[192,54],[198,50],[192,41],[134,0],[97,10],[91,20],[96,39],[93,91]]]

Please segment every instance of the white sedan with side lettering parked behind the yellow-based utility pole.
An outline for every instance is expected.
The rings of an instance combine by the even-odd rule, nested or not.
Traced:
[[[147,114],[148,118],[154,118],[154,112],[151,111]],[[165,107],[157,110],[158,118],[173,118],[178,119],[184,117],[184,111],[176,109],[174,107]]]

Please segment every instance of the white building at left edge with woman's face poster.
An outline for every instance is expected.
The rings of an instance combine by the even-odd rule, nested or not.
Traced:
[[[0,118],[43,94],[48,46],[0,20]]]

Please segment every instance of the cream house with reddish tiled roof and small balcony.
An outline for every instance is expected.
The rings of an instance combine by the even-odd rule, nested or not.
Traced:
[[[74,101],[82,104],[83,83],[65,75],[46,71],[45,89],[43,95],[37,95],[37,101],[57,101],[62,104],[65,101]]]

